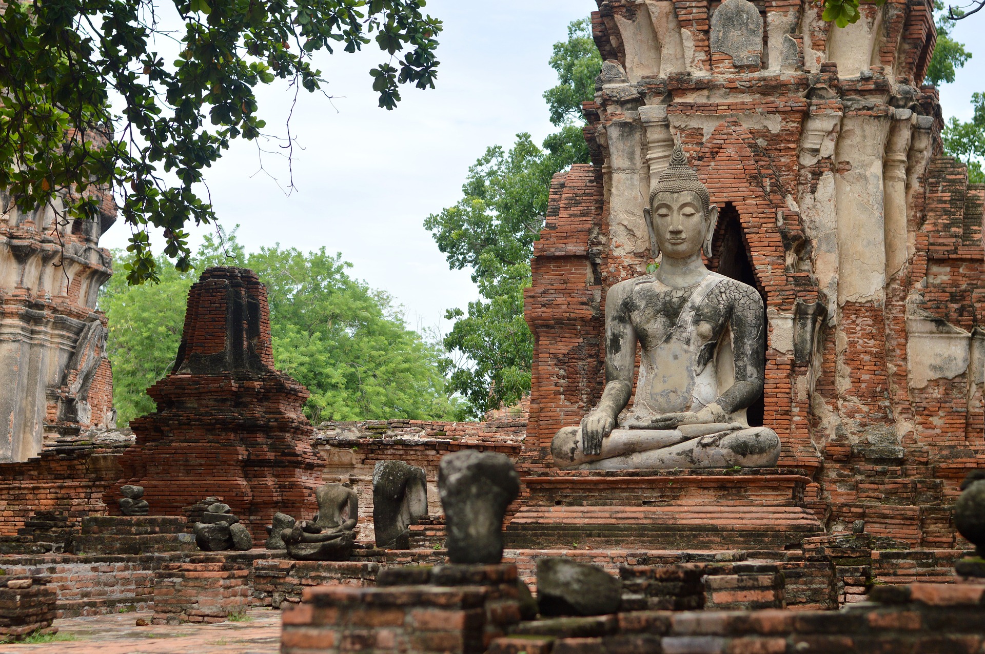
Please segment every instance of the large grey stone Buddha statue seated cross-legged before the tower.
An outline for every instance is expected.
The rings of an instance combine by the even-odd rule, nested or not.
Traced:
[[[712,272],[718,208],[674,150],[644,210],[657,269],[606,296],[606,386],[578,426],[551,446],[561,469],[770,467],[776,433],[750,427],[762,394],[765,325],[755,288]],[[632,404],[636,345],[639,375]]]

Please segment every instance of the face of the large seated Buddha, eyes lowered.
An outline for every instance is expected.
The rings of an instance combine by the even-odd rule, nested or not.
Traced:
[[[717,216],[714,205],[705,214],[700,197],[693,191],[660,192],[650,209],[651,238],[665,257],[687,259],[699,255],[702,246],[710,250]]]

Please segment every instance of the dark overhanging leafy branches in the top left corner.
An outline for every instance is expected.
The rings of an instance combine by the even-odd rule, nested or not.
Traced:
[[[441,22],[422,14],[425,0],[172,2],[175,33],[156,0],[12,0],[0,20],[0,188],[23,210],[64,200],[73,218],[97,217],[93,191],[110,188],[134,229],[130,283],[160,278],[150,229],[178,270],[191,267],[186,226],[216,217],[204,169],[265,127],[257,85],[322,89],[313,53],[374,40],[386,61],[369,71],[372,88],[392,109],[400,85],[433,88],[438,64]]]

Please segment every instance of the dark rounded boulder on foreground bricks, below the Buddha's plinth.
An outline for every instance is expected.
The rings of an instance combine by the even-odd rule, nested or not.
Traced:
[[[597,565],[560,557],[537,560],[537,604],[542,616],[617,613],[623,583]]]

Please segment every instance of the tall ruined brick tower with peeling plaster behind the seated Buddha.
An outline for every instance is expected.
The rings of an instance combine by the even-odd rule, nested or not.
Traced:
[[[680,143],[721,208],[709,268],[765,301],[750,418],[810,480],[800,505],[959,547],[950,506],[985,462],[985,187],[942,154],[932,10],[864,3],[838,29],[801,0],[599,0],[593,164],[555,178],[527,295],[528,474],[598,401],[605,293],[643,273],[643,208]]]

